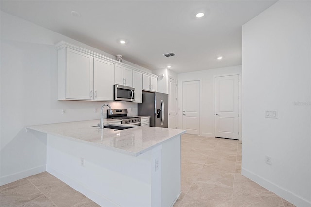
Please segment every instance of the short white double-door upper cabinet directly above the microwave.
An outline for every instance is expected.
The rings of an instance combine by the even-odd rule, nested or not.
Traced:
[[[133,87],[133,70],[115,64],[115,84]]]

